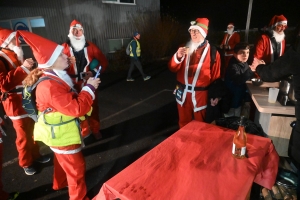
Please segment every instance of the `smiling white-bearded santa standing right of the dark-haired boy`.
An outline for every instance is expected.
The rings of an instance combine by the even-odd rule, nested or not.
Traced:
[[[266,33],[259,36],[255,44],[254,58],[263,60],[266,64],[274,62],[285,51],[285,34],[287,19],[283,15],[275,15]]]

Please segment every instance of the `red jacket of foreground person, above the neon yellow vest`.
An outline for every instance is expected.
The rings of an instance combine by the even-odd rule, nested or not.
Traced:
[[[81,117],[88,113],[93,103],[94,93],[90,89],[83,89],[79,94],[70,90],[70,86],[58,76],[44,72],[56,80],[45,80],[36,88],[36,103],[39,111],[52,108],[52,112]],[[87,87],[87,86],[86,86]]]

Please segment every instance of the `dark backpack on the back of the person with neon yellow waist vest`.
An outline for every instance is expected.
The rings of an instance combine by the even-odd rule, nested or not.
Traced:
[[[54,78],[51,78],[49,76],[44,76],[39,78],[39,80],[34,83],[32,86],[26,86],[24,87],[22,91],[22,107],[24,110],[28,113],[29,117],[32,118],[35,122],[38,121],[38,110],[36,108],[36,96],[35,96],[35,88],[36,86],[45,80],[55,80]]]

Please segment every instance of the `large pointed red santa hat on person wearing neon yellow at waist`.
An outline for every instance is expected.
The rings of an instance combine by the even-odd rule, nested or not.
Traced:
[[[30,46],[38,63],[38,68],[51,67],[63,50],[63,46],[28,31],[18,30],[16,38],[19,36],[22,36],[23,40]],[[17,40],[17,46],[19,45],[19,40]]]

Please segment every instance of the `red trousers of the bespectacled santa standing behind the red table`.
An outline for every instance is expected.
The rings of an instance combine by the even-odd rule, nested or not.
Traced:
[[[192,93],[187,92],[183,105],[177,103],[179,115],[179,127],[182,128],[192,120],[203,122],[205,119],[206,109],[194,112],[194,104],[192,102]]]

